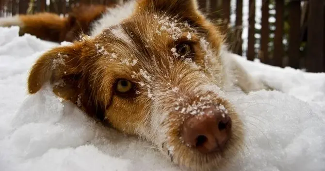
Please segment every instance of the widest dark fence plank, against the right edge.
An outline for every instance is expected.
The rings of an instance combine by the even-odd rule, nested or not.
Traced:
[[[308,72],[324,71],[324,16],[323,0],[309,0],[307,70]]]

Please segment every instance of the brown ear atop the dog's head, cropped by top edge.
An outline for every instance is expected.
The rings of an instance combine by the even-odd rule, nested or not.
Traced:
[[[152,8],[155,11],[174,13],[193,13],[198,10],[196,0],[141,0],[141,8]]]

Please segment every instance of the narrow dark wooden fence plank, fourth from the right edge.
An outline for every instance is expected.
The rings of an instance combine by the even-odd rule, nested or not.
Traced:
[[[270,37],[270,28],[269,28],[269,4],[270,0],[263,0],[262,2],[262,28],[260,31],[260,61],[263,63],[270,64],[269,57],[269,37]]]

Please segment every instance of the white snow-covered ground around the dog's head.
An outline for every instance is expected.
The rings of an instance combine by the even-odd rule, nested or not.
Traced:
[[[27,95],[31,65],[55,46],[0,28],[0,171],[178,171],[150,143],[96,124],[48,87]],[[225,170],[324,171],[325,73],[238,60],[281,92],[229,92],[246,140]]]

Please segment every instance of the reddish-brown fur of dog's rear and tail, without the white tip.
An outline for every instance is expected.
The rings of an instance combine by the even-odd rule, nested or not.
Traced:
[[[105,5],[84,5],[74,7],[68,17],[60,17],[52,13],[38,13],[34,15],[21,15],[23,22],[20,35],[32,34],[40,39],[52,42],[73,42],[81,33],[89,34],[91,24],[105,13],[108,7],[114,3]]]

